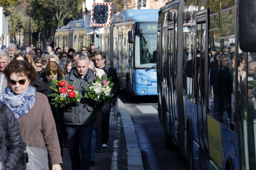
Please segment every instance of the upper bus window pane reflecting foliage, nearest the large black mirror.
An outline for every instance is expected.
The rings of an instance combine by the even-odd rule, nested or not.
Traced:
[[[220,13],[221,36],[235,35],[235,9]]]

